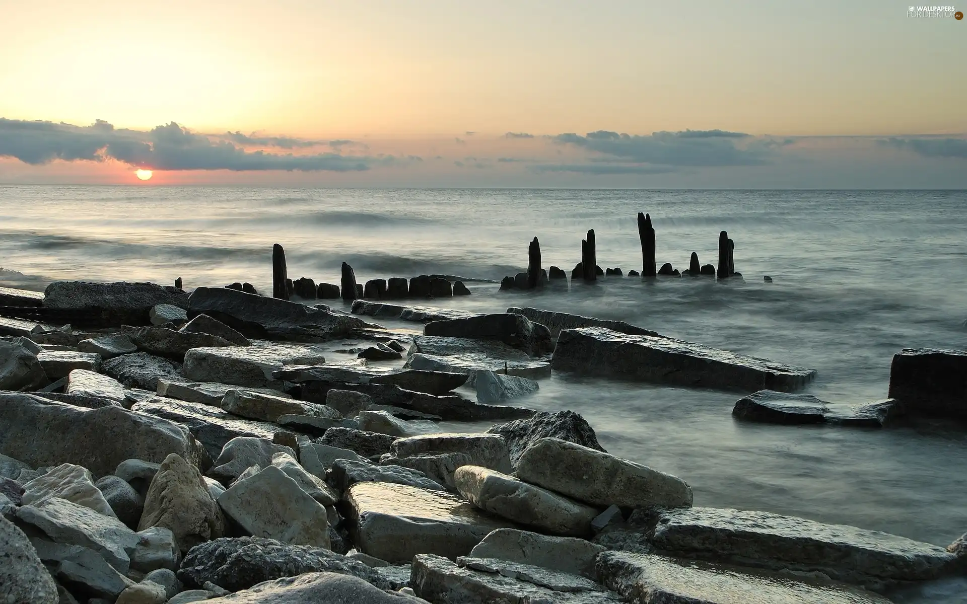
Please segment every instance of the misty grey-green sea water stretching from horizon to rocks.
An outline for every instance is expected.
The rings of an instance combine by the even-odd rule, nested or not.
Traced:
[[[499,280],[526,266],[569,273],[588,228],[601,267],[640,270],[635,216],[651,214],[659,264],[717,263],[735,240],[744,283],[609,278],[570,292],[473,296],[446,305],[533,305],[621,319],[674,337],[819,371],[836,404],[884,398],[904,347],[967,348],[967,191],[361,190],[0,187],[0,280],[154,280],[271,285],[449,273]],[[774,283],[764,283],[769,274]],[[410,326],[412,327],[412,326]],[[967,531],[967,432],[739,424],[734,393],[559,377],[526,404],[586,417],[608,450],[685,478],[699,505],[754,508],[947,545]],[[522,401],[523,402],[523,401]],[[465,427],[465,426],[464,426]],[[962,583],[897,601],[956,602]]]

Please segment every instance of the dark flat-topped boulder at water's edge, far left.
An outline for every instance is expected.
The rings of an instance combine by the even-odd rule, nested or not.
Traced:
[[[155,283],[54,281],[44,290],[44,307],[98,311],[105,326],[151,325],[158,304],[188,307],[185,292]]]

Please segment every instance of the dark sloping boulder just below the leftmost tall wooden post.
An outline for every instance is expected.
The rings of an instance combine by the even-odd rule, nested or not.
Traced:
[[[220,287],[199,287],[189,302],[190,318],[206,314],[249,338],[324,341],[365,327],[356,317]]]

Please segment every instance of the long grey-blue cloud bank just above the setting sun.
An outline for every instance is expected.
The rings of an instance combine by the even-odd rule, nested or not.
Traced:
[[[239,134],[244,137],[244,134]],[[250,137],[247,137],[250,138]],[[266,137],[270,139],[272,137]],[[278,140],[288,140],[277,138]],[[295,140],[295,139],[292,139]],[[277,154],[246,151],[218,137],[195,134],[175,122],[150,131],[115,129],[99,120],[77,127],[53,122],[27,122],[0,118],[0,157],[40,165],[55,159],[104,161],[116,159],[132,166],[156,170],[299,170],[362,171],[408,159]]]

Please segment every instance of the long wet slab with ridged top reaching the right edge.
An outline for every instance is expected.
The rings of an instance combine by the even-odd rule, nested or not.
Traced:
[[[820,571],[859,584],[870,579],[933,579],[950,569],[955,560],[942,547],[886,532],[712,507],[663,514],[654,543],[659,550],[678,555]]]

